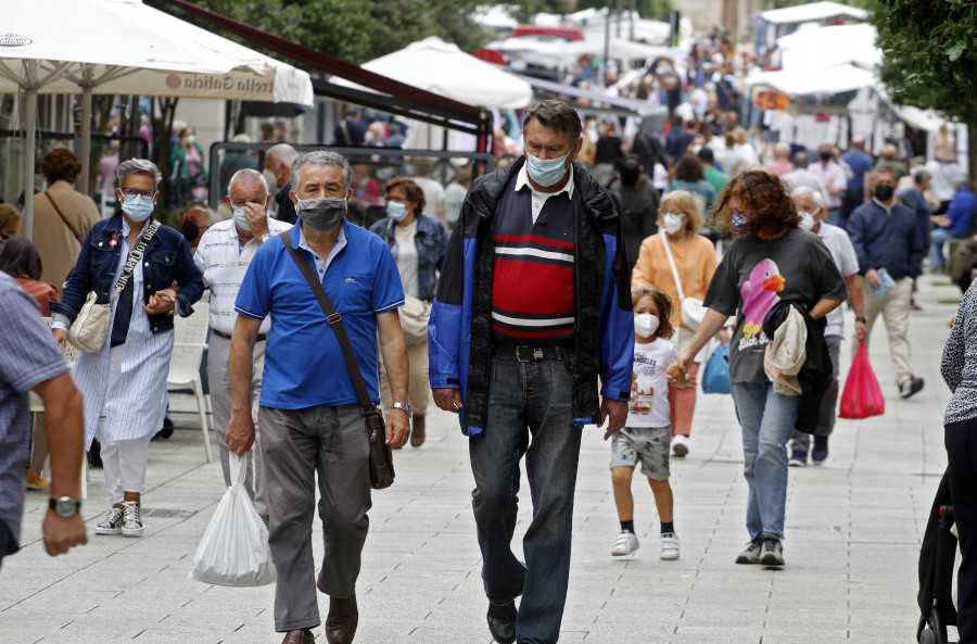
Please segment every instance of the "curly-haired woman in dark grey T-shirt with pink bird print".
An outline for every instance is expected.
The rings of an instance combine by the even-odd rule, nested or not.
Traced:
[[[767,378],[763,356],[773,336],[764,333],[763,325],[781,301],[796,303],[820,320],[845,300],[845,280],[817,236],[798,228],[789,189],[773,175],[738,174],[720,194],[713,218],[734,240],[706,292],[706,316],[670,368],[687,372],[696,353],[739,312],[729,382],[743,431],[750,542],[736,563],[783,566],[787,442],[800,397],[778,393]]]

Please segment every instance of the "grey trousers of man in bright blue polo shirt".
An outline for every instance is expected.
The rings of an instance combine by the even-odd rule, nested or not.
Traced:
[[[275,630],[312,629],[319,624],[316,588],[337,598],[356,592],[371,505],[366,420],[359,405],[262,407],[258,417],[268,544],[278,569]],[[312,552],[317,473],[326,546],[318,581]]]

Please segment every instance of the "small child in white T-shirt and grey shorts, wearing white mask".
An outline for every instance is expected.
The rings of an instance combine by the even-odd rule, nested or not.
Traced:
[[[672,428],[669,424],[669,383],[686,387],[688,376],[669,365],[678,359],[678,351],[669,341],[673,329],[669,323],[672,301],[655,286],[631,291],[634,307],[634,375],[627,422],[611,439],[611,482],[614,504],[621,520],[621,533],[611,550],[614,556],[630,555],[640,547],[634,529],[634,497],[631,479],[642,465],[648,477],[655,506],[661,520],[661,558],[678,558],[678,536],[672,517],[672,488],[669,485],[669,451]]]

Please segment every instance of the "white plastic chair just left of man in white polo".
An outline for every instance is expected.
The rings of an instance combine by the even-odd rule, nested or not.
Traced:
[[[167,391],[192,389],[196,396],[196,411],[200,414],[200,429],[203,432],[207,463],[214,458],[211,456],[207,400],[200,378],[200,365],[203,362],[203,352],[207,349],[210,308],[206,300],[202,299],[193,305],[193,315],[190,317],[175,316],[173,357],[169,358],[169,376],[166,378]]]

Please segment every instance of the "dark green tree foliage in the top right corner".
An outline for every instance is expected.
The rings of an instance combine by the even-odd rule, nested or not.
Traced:
[[[977,2],[880,0],[872,18],[885,53],[883,83],[899,104],[934,109],[969,129],[977,171]]]

